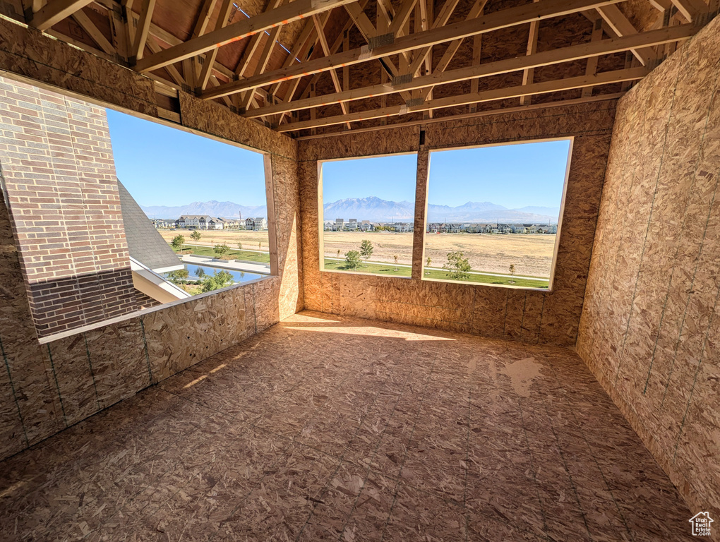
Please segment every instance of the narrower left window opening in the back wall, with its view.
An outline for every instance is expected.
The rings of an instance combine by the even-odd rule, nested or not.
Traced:
[[[409,277],[417,154],[320,163],[325,271]]]

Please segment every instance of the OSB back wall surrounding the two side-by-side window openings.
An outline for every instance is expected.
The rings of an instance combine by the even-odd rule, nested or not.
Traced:
[[[615,102],[606,101],[424,127],[423,150],[575,137],[553,292],[320,271],[317,161],[418,151],[421,128],[301,141],[305,307],[528,343],[574,345],[614,113]],[[415,259],[418,254],[416,250]]]

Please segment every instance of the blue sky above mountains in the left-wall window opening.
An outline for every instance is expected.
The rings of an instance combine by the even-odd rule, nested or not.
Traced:
[[[263,155],[107,109],[117,177],[141,205],[265,204]]]

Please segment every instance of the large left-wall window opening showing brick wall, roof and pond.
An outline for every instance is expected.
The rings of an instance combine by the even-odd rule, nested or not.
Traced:
[[[41,340],[271,274],[265,155],[9,78],[0,91],[0,189]]]

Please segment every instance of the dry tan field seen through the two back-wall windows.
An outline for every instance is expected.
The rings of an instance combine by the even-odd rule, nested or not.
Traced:
[[[370,261],[412,263],[413,234],[391,232],[323,232],[325,256],[334,258],[359,250],[363,239],[372,241],[374,251]],[[460,250],[477,271],[508,273],[512,263],[517,275],[550,276],[555,235],[490,235],[477,233],[428,233],[425,256],[432,258],[431,266],[442,267],[447,254]]]

